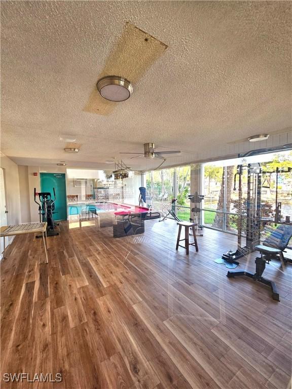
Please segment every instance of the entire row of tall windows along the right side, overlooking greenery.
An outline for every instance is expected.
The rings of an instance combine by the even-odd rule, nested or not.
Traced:
[[[218,161],[196,166],[196,176],[192,176],[194,192],[204,195],[200,204],[201,224],[206,227],[236,233],[238,230],[238,214],[240,212],[243,222],[246,220],[247,200],[247,165],[258,164],[262,171],[279,171],[292,168],[292,152],[262,154],[245,159]],[[238,166],[242,165],[241,183],[242,199],[239,199]],[[192,168],[193,169],[193,168]],[[235,179],[236,176],[236,179]],[[199,177],[199,178],[198,178]],[[201,179],[200,179],[201,178]],[[198,181],[198,182],[197,182]],[[153,208],[165,210],[172,208],[181,220],[189,220],[191,216],[188,196],[191,193],[191,166],[171,169],[154,170],[144,174],[144,186],[153,200]],[[292,174],[291,172],[278,174],[277,202],[281,203],[282,218],[291,215],[292,209]],[[276,209],[276,173],[262,174],[261,187],[262,217],[272,218]],[[171,205],[171,200],[177,199]]]

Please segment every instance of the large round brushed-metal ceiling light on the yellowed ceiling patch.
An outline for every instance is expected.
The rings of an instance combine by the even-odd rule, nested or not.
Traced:
[[[97,81],[100,95],[109,101],[125,101],[133,93],[132,84],[118,75],[107,75]]]

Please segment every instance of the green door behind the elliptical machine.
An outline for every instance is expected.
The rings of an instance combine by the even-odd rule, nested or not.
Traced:
[[[54,198],[56,192],[54,220],[67,219],[66,178],[65,173],[41,173],[41,190],[50,192]]]

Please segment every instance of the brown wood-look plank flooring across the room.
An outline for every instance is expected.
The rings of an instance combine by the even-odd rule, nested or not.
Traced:
[[[280,302],[252,280],[228,279],[213,259],[236,237],[204,230],[199,252],[175,251],[172,220],[140,237],[69,228],[42,241],[17,237],[1,261],[1,388],[287,389],[291,275],[267,265]],[[241,259],[254,270],[252,254]],[[5,383],[4,373],[62,374]]]

